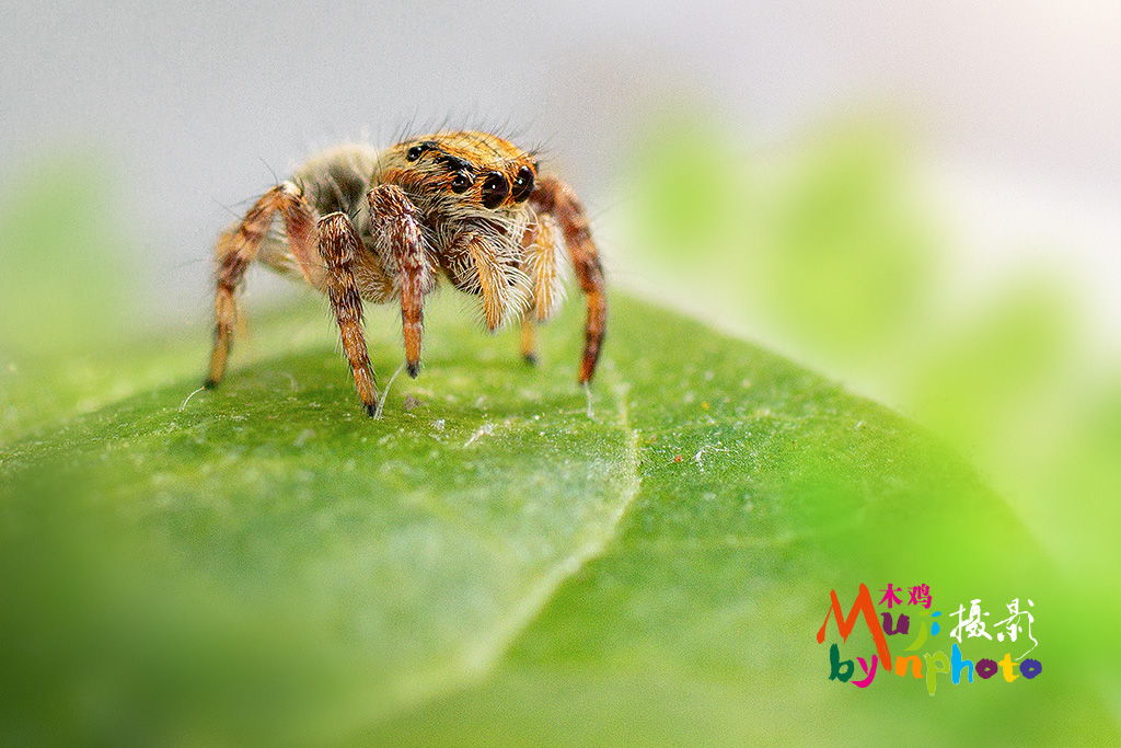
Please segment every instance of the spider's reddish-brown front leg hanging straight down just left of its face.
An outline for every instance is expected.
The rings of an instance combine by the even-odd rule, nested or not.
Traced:
[[[405,363],[409,376],[416,379],[424,338],[424,298],[436,287],[436,274],[425,255],[417,209],[401,188],[389,184],[376,187],[370,191],[369,202],[374,230],[388,237],[398,269]]]

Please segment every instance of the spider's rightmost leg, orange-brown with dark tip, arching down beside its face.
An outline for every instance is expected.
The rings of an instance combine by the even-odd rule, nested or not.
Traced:
[[[603,345],[608,322],[608,298],[603,283],[600,252],[592,241],[587,215],[572,188],[554,177],[537,183],[530,202],[539,215],[552,215],[560,225],[568,256],[580,287],[587,297],[587,317],[584,323],[584,354],[580,366],[580,381],[584,384],[595,373],[595,363]]]

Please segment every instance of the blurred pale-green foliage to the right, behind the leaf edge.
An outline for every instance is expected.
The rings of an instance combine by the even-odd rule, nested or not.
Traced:
[[[695,111],[660,113],[636,139],[622,262],[647,262],[655,293],[935,432],[1072,581],[1121,561],[1121,486],[1108,486],[1121,452],[1105,443],[1121,368],[1110,320],[1064,261],[1075,251],[1026,247],[966,293],[962,238],[900,117],[843,112],[760,158]]]

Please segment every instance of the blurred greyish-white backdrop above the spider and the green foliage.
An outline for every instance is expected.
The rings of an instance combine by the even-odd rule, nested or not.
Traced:
[[[887,102],[918,133],[964,275],[1062,252],[1102,332],[1121,329],[1115,0],[230,4],[2,9],[0,195],[53,154],[103,159],[109,183],[87,186],[135,231],[164,320],[205,315],[223,205],[316,147],[507,126],[610,224],[637,122],[686,94],[748,154]]]

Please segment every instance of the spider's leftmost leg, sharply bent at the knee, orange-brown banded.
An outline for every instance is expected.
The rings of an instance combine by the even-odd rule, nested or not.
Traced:
[[[293,255],[300,261],[306,275],[311,262],[311,237],[315,225],[315,211],[304,200],[299,187],[290,182],[272,187],[245,213],[237,227],[224,232],[215,247],[217,275],[214,290],[214,347],[211,350],[210,373],[204,387],[213,389],[222,381],[225,362],[230,355],[233,325],[238,318],[234,295],[245,277],[245,270],[257,256],[265,237],[279,212]]]

